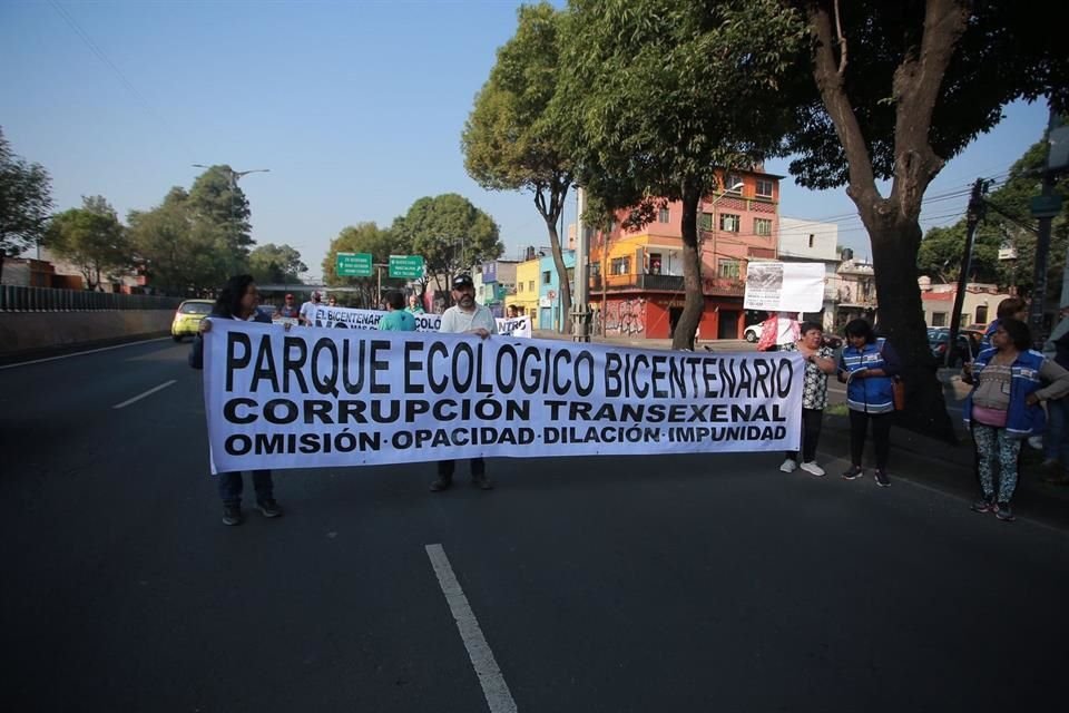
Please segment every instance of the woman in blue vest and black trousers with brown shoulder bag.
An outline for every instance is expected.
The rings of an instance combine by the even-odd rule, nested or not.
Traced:
[[[876,339],[865,320],[846,323],[846,348],[838,359],[838,380],[846,384],[846,407],[850,409],[850,469],[846,480],[861,478],[861,459],[865,452],[865,436],[872,422],[872,438],[876,443],[876,485],[886,488],[887,456],[891,452],[891,419],[894,413],[893,377],[899,373],[899,355],[885,339]]]

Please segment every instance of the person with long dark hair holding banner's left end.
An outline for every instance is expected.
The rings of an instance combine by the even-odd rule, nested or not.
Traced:
[[[204,369],[204,340],[212,331],[212,320],[239,320],[246,322],[264,322],[271,324],[271,318],[259,312],[259,292],[252,275],[235,275],[231,277],[219,292],[218,300],[212,309],[208,319],[200,322],[200,331],[193,341],[189,352],[189,365],[194,369]],[[223,499],[223,524],[241,525],[242,515],[242,473],[220,472],[216,475],[219,487],[219,497]],[[253,471],[253,488],[256,490],[256,507],[264,517],[273,518],[282,515],[282,508],[275,501],[274,482],[269,470]]]

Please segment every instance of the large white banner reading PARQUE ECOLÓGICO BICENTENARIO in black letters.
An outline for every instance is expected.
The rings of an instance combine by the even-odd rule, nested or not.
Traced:
[[[797,450],[802,355],[213,320],[213,468]]]

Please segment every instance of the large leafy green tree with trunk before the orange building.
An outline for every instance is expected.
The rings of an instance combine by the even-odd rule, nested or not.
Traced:
[[[749,168],[778,145],[786,113],[775,94],[804,26],[775,0],[572,0],[570,9],[558,99],[579,183],[616,208],[643,195],[683,202],[686,302],[673,348],[690,349],[705,306],[698,204],[723,170]]]

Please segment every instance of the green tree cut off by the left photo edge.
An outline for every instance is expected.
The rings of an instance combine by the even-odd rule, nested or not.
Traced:
[[[0,273],[4,256],[40,242],[52,211],[48,172],[16,156],[0,129]]]

